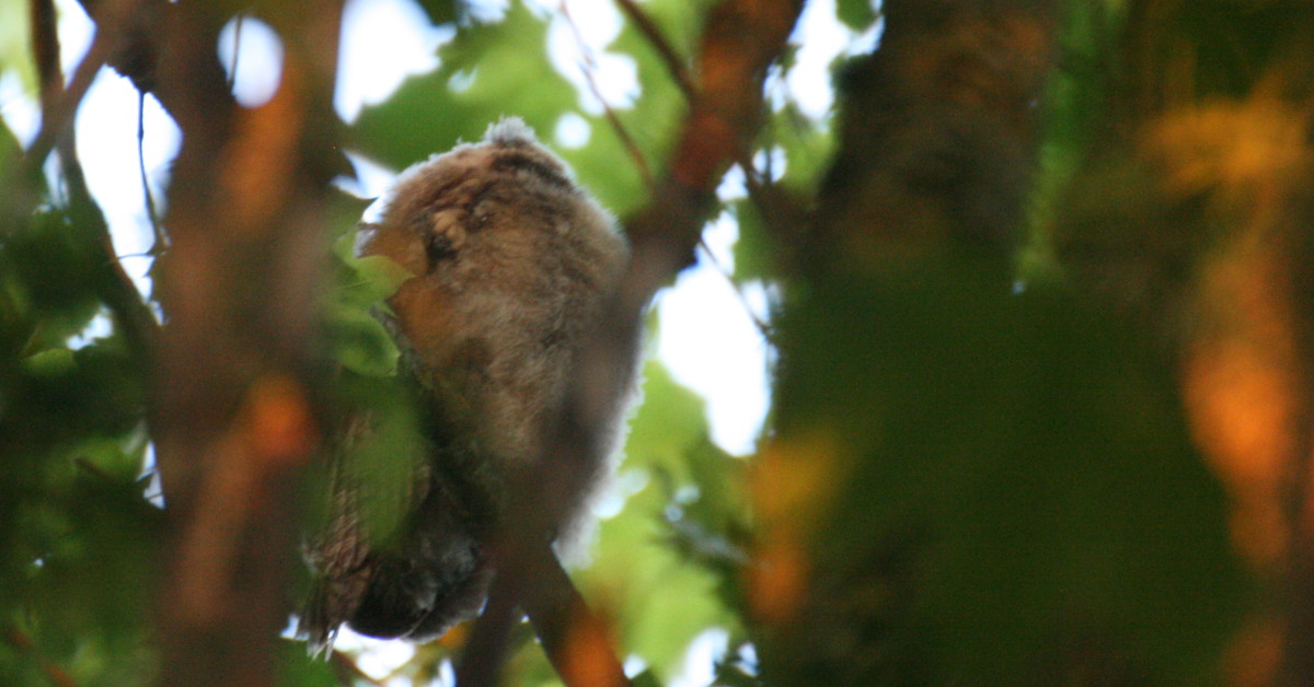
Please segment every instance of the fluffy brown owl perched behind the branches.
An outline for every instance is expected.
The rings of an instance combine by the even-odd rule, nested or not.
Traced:
[[[397,544],[364,536],[352,486],[309,548],[315,574],[301,628],[313,648],[342,623],[424,640],[477,615],[491,571],[484,546],[514,469],[545,453],[579,348],[612,296],[628,247],[614,219],[519,120],[403,172],[357,252],[413,275],[381,315],[402,353],[432,443]],[[629,394],[589,427],[590,485],[610,473]],[[569,537],[587,493],[551,529]]]

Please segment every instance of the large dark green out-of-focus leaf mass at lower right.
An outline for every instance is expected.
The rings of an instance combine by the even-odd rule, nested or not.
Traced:
[[[1071,294],[937,263],[787,309],[767,682],[1201,683],[1243,587],[1172,376]]]

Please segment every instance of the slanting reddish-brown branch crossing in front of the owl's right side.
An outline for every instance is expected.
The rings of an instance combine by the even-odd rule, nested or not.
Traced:
[[[581,599],[562,591],[561,577],[551,582],[564,573],[541,556],[551,539],[543,523],[557,521],[557,514],[569,507],[569,499],[587,481],[585,457],[598,453],[598,437],[585,430],[597,426],[589,418],[629,394],[633,374],[629,352],[640,336],[643,311],[662,284],[691,264],[716,185],[757,130],[766,68],[782,50],[802,7],[802,0],[725,0],[710,13],[700,49],[700,87],[690,104],[671,169],[658,184],[650,205],[627,223],[632,256],[623,285],[576,361],[574,384],[562,414],[549,430],[544,460],[539,468],[512,479],[509,499],[512,507],[491,552],[501,582],[490,604],[506,603],[501,600],[503,595],[519,599],[531,609],[531,619],[537,616],[535,625],[540,632],[548,634],[544,646],[548,648],[551,638],[557,646],[553,654],[561,661],[569,653],[562,646],[570,646],[556,629],[562,627],[564,617],[582,623],[578,627],[587,637],[606,637],[606,633],[600,623],[581,612],[585,608]],[[501,667],[506,627],[505,620],[494,616],[477,623],[474,632],[481,641],[466,649],[464,675],[473,673],[468,667],[472,662],[489,665],[494,671]],[[576,646],[585,646],[582,650],[594,657],[589,663],[615,663],[604,641],[587,640]],[[602,654],[610,657],[610,663],[600,659]],[[603,674],[607,679],[624,679],[623,673],[618,676],[610,669],[603,669]],[[473,684],[495,683],[495,676],[481,674]],[[461,687],[472,684],[465,682]]]

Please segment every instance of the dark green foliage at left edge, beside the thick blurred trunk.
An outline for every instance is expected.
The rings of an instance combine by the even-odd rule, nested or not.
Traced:
[[[148,684],[160,512],[139,478],[145,389],[58,208],[0,236],[0,680]],[[101,315],[102,317],[102,315]],[[74,345],[76,343],[76,345]]]

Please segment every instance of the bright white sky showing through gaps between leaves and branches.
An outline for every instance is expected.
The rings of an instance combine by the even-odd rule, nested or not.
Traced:
[[[481,5],[481,16],[497,16],[505,7],[497,1],[476,4]],[[557,3],[532,4],[544,16],[553,14],[549,29],[553,64],[579,87],[586,110],[600,110],[600,105],[586,87],[583,64],[593,66],[594,80],[614,108],[632,101],[639,88],[633,66],[628,58],[604,50],[620,21],[610,0],[570,0],[566,7],[574,28],[556,12]],[[68,71],[89,46],[92,24],[76,3],[60,0],[59,8],[63,63]],[[827,68],[853,38],[833,17],[833,0],[808,4],[799,62],[786,84],[800,109],[816,118],[825,116],[833,99]],[[346,7],[346,22],[335,99],[346,120],[386,99],[407,76],[434,68],[438,64],[434,51],[451,38],[449,29],[430,28],[423,12],[407,0],[352,0]],[[219,53],[226,64],[233,59],[229,41],[234,29],[230,25],[222,35]],[[279,63],[281,46],[259,21],[243,22],[240,37],[234,91],[243,104],[256,105],[277,87],[271,64]],[[7,122],[20,139],[30,138],[37,125],[32,117],[34,105],[14,102],[21,96],[12,88],[0,92],[7,96],[0,110]],[[562,122],[557,131],[539,135],[565,147],[579,144],[589,133],[587,127],[581,130]],[[151,231],[137,169],[137,91],[130,81],[108,68],[102,71],[79,113],[78,137],[88,184],[108,215],[116,250],[121,256],[141,256],[151,247]],[[177,146],[176,127],[155,100],[147,97],[143,155],[158,204],[163,201],[162,181]],[[372,183],[363,184],[361,190],[378,193],[380,177],[386,179],[390,171],[380,175],[380,169],[371,168],[371,172]],[[721,268],[733,267],[729,255],[737,231],[732,221],[721,218],[708,233],[707,243]],[[139,288],[148,290],[148,259],[126,257],[125,265]],[[761,290],[750,292],[749,299],[765,306]],[[657,353],[679,382],[707,399],[714,440],[731,453],[752,452],[766,415],[767,359],[745,301],[704,256],[673,289],[662,293],[657,307],[661,314]],[[762,317],[762,311],[754,315]]]

